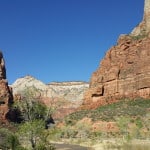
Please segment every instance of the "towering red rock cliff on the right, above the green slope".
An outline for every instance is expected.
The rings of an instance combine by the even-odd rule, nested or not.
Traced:
[[[142,22],[121,35],[93,73],[83,106],[95,108],[122,97],[150,97],[150,0]]]

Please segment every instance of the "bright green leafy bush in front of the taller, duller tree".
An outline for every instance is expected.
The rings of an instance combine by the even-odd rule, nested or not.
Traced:
[[[45,131],[43,120],[27,121],[19,126],[20,141],[25,141],[25,145],[29,145],[32,149],[54,149],[54,147],[48,142],[48,131]],[[48,148],[49,147],[49,148]]]

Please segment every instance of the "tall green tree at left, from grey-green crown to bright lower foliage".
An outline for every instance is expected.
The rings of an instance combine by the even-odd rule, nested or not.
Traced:
[[[21,143],[30,145],[29,148],[33,150],[53,150],[54,147],[48,141],[49,132],[45,131],[50,111],[40,102],[34,88],[22,92],[21,100],[16,101],[14,107],[20,110],[24,120],[18,130]]]

